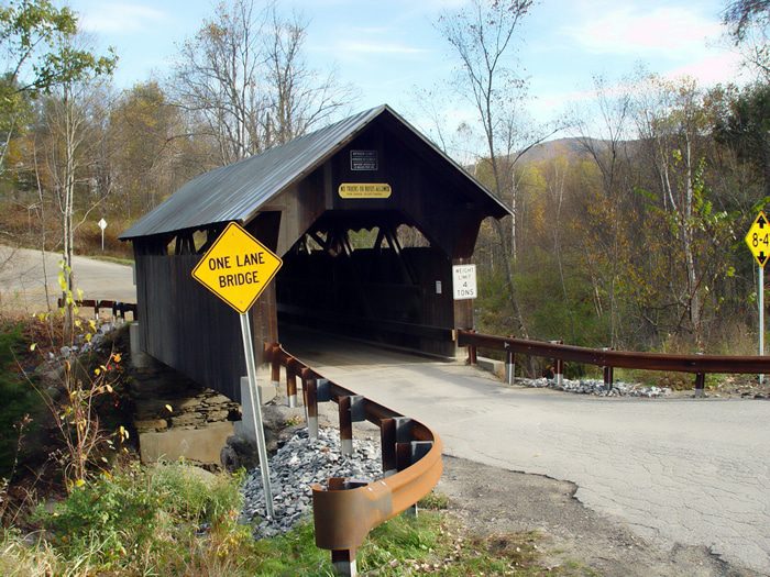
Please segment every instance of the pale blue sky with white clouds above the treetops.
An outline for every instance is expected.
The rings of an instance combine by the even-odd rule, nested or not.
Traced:
[[[260,0],[256,0],[258,3]],[[620,82],[640,65],[662,76],[690,75],[702,85],[738,80],[740,57],[724,38],[726,0],[541,0],[521,27],[517,67],[530,84],[528,111],[553,120],[591,98],[592,78]],[[420,125],[419,89],[451,82],[457,58],[435,23],[465,0],[277,0],[308,22],[307,58],[334,67],[358,89],[352,110],[382,103]],[[70,0],[100,48],[120,56],[114,81],[130,88],[163,79],[202,21],[208,0]],[[460,120],[466,102],[451,102]],[[451,101],[452,99],[450,99]],[[469,118],[470,120],[470,118]]]

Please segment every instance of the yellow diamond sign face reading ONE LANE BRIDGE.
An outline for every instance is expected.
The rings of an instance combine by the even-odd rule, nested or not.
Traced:
[[[243,314],[283,264],[241,225],[231,222],[193,269],[193,278]]]

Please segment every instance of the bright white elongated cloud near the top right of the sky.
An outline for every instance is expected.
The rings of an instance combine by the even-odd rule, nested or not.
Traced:
[[[678,57],[703,51],[706,38],[718,35],[722,26],[686,8],[625,7],[562,30],[595,54]]]

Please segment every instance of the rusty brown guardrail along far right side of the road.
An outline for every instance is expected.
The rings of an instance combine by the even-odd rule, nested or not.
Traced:
[[[539,356],[556,360],[556,375],[563,373],[563,363],[568,360],[604,367],[605,385],[613,384],[613,368],[636,368],[644,370],[667,370],[673,373],[692,373],[695,375],[695,389],[703,391],[705,375],[716,374],[770,374],[770,357],[766,356],[727,356],[727,355],[669,355],[663,353],[636,353],[612,351],[609,348],[586,348],[564,345],[560,341],[543,342],[524,339],[479,334],[473,331],[458,331],[458,345],[469,347],[471,362],[476,356],[476,348],[503,351],[506,353],[508,381],[513,377],[515,355]]]

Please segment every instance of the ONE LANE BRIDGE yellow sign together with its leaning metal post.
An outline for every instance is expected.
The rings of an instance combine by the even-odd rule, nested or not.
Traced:
[[[193,278],[235,309],[241,318],[243,356],[246,359],[249,378],[249,401],[252,406],[262,488],[265,491],[265,509],[268,518],[273,517],[273,489],[270,484],[265,430],[262,423],[262,399],[256,386],[254,343],[248,313],[282,265],[283,262],[278,256],[242,226],[231,222],[193,269]]]

